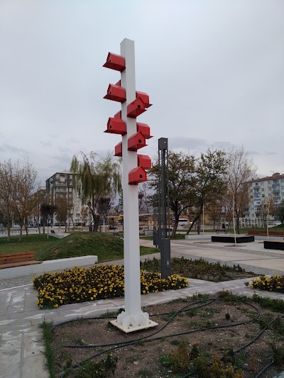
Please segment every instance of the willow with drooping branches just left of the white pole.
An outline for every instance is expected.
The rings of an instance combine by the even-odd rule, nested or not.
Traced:
[[[89,206],[94,231],[99,228],[99,201],[121,191],[121,165],[111,155],[99,158],[94,152],[84,152],[72,158],[70,171],[75,174],[75,188],[82,204]]]

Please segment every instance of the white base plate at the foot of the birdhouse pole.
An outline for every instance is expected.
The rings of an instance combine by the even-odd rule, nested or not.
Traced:
[[[119,313],[119,316],[117,316],[114,321],[110,321],[110,323],[120,330],[123,330],[125,333],[158,326],[158,323],[149,319],[148,313],[142,311],[133,315],[126,315],[126,313],[122,311]]]

